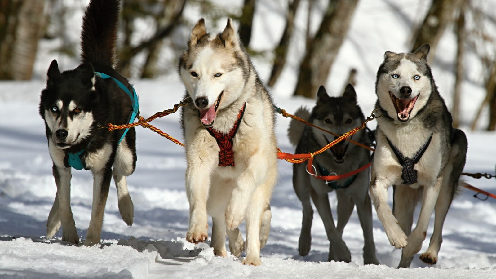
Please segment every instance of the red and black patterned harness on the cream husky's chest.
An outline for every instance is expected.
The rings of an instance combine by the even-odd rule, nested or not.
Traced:
[[[219,146],[219,166],[220,167],[228,167],[234,166],[234,150],[233,150],[233,139],[236,136],[236,132],[238,132],[238,128],[240,127],[241,120],[243,119],[243,114],[245,114],[245,108],[247,107],[247,103],[243,105],[243,108],[238,113],[238,118],[234,123],[233,128],[229,133],[222,134],[219,131],[214,130],[212,127],[207,127],[208,133],[217,141],[217,145]]]

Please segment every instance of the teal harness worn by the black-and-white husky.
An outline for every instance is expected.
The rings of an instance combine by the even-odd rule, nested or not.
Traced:
[[[131,88],[132,88],[132,93],[131,93],[131,91],[129,91],[129,89],[121,81],[117,80],[117,78],[112,77],[112,76],[105,74],[103,72],[98,72],[98,71],[95,71],[95,75],[97,75],[103,79],[107,79],[109,77],[114,79],[114,81],[117,83],[117,85],[119,85],[119,87],[121,89],[123,89],[124,92],[127,93],[129,98],[131,98],[132,112],[131,112],[131,116],[129,118],[129,124],[131,124],[134,121],[134,119],[136,119],[136,117],[138,116],[138,111],[139,111],[138,95],[136,94],[136,90],[134,90],[134,87],[131,86]],[[127,131],[129,131],[129,128],[126,128],[124,130],[124,134],[122,135],[121,139],[119,139],[119,141],[117,142],[117,145],[119,145],[121,143],[121,141],[124,139],[124,136],[127,134]],[[85,151],[86,151],[85,149],[82,149],[82,150],[75,152],[75,153],[65,152],[65,158],[64,158],[65,167],[67,167],[67,168],[72,167],[76,170],[86,169],[86,162],[84,160],[84,156],[86,155]]]

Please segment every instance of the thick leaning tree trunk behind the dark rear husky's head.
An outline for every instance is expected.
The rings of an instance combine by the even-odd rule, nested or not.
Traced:
[[[330,0],[320,27],[300,65],[294,95],[314,98],[325,84],[330,68],[350,26],[358,0]]]

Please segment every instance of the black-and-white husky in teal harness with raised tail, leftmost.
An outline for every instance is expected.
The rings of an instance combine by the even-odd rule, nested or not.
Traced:
[[[61,73],[54,60],[48,70],[40,115],[45,120],[57,195],[48,216],[47,238],[62,225],[62,241],[79,243],[70,207],[71,167],[93,173],[93,204],[84,245],[100,242],[112,176],[121,216],[128,225],[133,221],[125,176],[136,165],[134,128],[127,132],[99,129],[108,123],[127,124],[138,112],[132,86],[113,69],[119,9],[119,0],[91,0],[83,18],[82,64]]]

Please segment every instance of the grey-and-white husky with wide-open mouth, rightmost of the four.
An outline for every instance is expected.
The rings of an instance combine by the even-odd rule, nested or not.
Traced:
[[[403,248],[398,268],[410,267],[422,248],[433,210],[434,232],[420,259],[437,262],[442,226],[465,165],[467,139],[453,129],[427,64],[429,45],[414,53],[384,54],[377,71],[377,148],[372,160],[370,194],[387,238]],[[387,188],[393,185],[393,210]],[[414,209],[422,201],[417,225]]]

